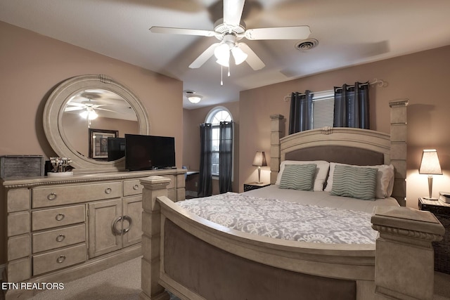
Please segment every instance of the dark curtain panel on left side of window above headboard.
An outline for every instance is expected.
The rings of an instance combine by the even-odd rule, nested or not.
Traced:
[[[290,98],[289,134],[311,129],[312,118],[311,91],[304,94],[292,93]]]

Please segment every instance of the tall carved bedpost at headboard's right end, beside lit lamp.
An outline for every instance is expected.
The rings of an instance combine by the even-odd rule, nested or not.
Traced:
[[[397,199],[401,206],[406,206],[406,142],[407,142],[407,114],[408,99],[390,101],[391,107],[391,164],[395,168],[394,190],[392,197]]]

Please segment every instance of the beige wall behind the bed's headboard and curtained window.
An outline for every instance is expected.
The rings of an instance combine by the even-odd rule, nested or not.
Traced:
[[[256,169],[251,165],[255,151],[269,152],[269,115],[289,117],[290,103],[283,101],[284,96],[292,91],[326,91],[344,83],[375,78],[383,79],[387,86],[371,86],[371,129],[389,133],[389,101],[398,98],[410,101],[407,206],[417,207],[418,197],[428,195],[427,176],[418,174],[423,149],[437,149],[444,172],[444,176],[435,176],[433,195],[437,197],[439,190],[450,190],[450,134],[446,124],[450,114],[450,46],[242,91],[239,101],[240,188],[243,183],[257,178]],[[269,167],[263,168],[262,181],[269,182]]]

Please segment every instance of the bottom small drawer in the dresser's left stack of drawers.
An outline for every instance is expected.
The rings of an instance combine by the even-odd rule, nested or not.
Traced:
[[[86,244],[33,255],[33,275],[47,273],[86,261]]]

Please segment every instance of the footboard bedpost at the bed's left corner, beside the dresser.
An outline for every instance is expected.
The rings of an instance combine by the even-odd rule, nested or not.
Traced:
[[[161,212],[156,197],[167,196],[170,179],[150,176],[141,179],[142,190],[142,264],[140,299],[165,300],[169,294],[158,284],[160,279]]]

